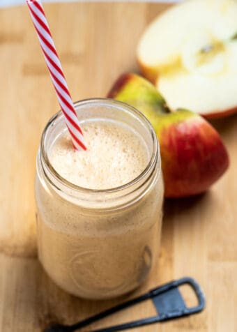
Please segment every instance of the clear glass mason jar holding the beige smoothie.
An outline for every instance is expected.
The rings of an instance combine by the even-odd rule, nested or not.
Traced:
[[[67,130],[62,112],[49,120],[37,156],[38,255],[47,274],[75,296],[106,299],[130,292],[158,258],[163,183],[155,132],[135,108],[115,100],[75,103],[79,121],[126,123],[146,143],[149,162],[118,188],[91,190],[63,179],[49,150]]]

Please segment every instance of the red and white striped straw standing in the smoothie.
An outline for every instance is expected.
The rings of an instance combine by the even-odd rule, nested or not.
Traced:
[[[26,0],[26,3],[29,7],[38,39],[40,40],[40,45],[52,78],[52,83],[56,90],[59,105],[65,116],[66,126],[72,138],[72,144],[76,150],[86,150],[82,129],[79,126],[79,120],[72,103],[70,92],[68,91],[68,84],[63,74],[54,41],[52,40],[52,34],[49,30],[49,24],[45,17],[42,3],[40,0]]]

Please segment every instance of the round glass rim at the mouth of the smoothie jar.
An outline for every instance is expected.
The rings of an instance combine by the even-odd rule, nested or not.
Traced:
[[[84,188],[81,186],[77,186],[75,183],[72,183],[68,181],[67,179],[63,178],[58,172],[56,172],[56,169],[52,166],[52,164],[49,161],[49,158],[47,156],[47,152],[45,149],[45,138],[47,136],[47,130],[52,126],[52,123],[54,123],[56,120],[63,119],[63,112],[59,110],[59,112],[56,112],[51,119],[49,119],[47,125],[45,126],[43,130],[43,134],[40,140],[40,150],[41,155],[43,156],[44,164],[47,167],[47,170],[49,171],[49,174],[53,176],[56,181],[59,181],[63,186],[66,186],[72,190],[76,190],[78,193],[84,193],[84,194],[107,194],[107,193],[119,193],[121,190],[128,189],[132,186],[134,186],[136,183],[141,181],[146,177],[146,175],[151,172],[151,169],[155,167],[155,164],[157,163],[158,156],[160,156],[160,146],[158,143],[158,139],[156,137],[155,131],[153,129],[153,126],[151,126],[151,123],[146,119],[146,116],[142,114],[139,110],[137,110],[135,107],[132,107],[131,105],[128,105],[127,103],[123,103],[119,100],[114,100],[111,98],[88,98],[83,100],[78,100],[77,102],[73,103],[75,107],[83,106],[84,104],[88,105],[89,103],[109,103],[114,105],[120,105],[121,107],[125,107],[127,110],[132,112],[132,114],[135,114],[135,116],[139,117],[144,123],[146,123],[146,126],[148,127],[149,132],[151,133],[152,141],[153,141],[153,151],[151,154],[151,158],[148,162],[148,165],[144,169],[144,171],[139,174],[135,179],[132,181],[123,184],[122,186],[114,187],[114,188],[108,188],[108,189],[92,189],[92,188]],[[160,170],[159,170],[160,172]]]

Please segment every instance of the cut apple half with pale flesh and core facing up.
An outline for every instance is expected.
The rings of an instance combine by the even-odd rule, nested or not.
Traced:
[[[206,118],[237,112],[237,1],[171,7],[144,32],[137,59],[172,109]]]

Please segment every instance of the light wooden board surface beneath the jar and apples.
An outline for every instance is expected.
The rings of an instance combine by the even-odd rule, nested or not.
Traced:
[[[147,3],[45,5],[74,100],[105,96],[118,75],[137,70],[137,40],[164,8]],[[45,123],[59,107],[26,8],[1,9],[0,27],[0,331],[38,332],[47,322],[76,322],[121,299],[68,296],[38,263],[36,151]],[[214,125],[227,144],[231,167],[206,195],[165,203],[159,265],[136,292],[192,276],[204,289],[206,310],[133,331],[237,331],[237,115]],[[96,327],[153,313],[146,303]]]

